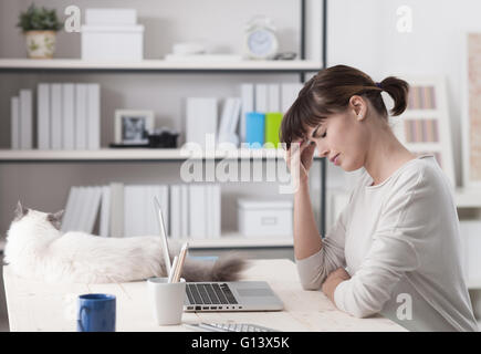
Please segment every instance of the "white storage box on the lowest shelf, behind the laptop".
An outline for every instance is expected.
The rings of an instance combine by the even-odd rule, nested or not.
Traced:
[[[245,237],[292,236],[292,201],[238,199],[239,232]]]

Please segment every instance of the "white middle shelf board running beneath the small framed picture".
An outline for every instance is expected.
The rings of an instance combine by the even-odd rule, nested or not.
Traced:
[[[100,150],[11,150],[0,149],[0,162],[22,160],[181,160],[189,158],[283,158],[283,149],[216,150],[189,153],[180,148],[103,148]]]

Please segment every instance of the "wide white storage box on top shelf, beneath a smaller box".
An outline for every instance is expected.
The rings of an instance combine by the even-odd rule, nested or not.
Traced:
[[[83,25],[82,59],[142,61],[144,25]]]

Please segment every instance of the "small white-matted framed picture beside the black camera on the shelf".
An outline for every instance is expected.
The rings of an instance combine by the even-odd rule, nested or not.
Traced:
[[[148,144],[153,131],[153,111],[115,111],[115,144]]]

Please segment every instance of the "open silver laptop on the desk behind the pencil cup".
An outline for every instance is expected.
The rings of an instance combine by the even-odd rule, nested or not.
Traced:
[[[164,254],[168,254],[167,232],[160,204],[154,198],[157,209]],[[164,257],[165,258],[165,257]],[[166,258],[165,258],[166,259]],[[169,263],[169,258],[167,262]],[[170,267],[166,266],[167,269]],[[212,281],[187,282],[184,311],[281,311],[284,304],[265,281]]]

